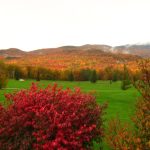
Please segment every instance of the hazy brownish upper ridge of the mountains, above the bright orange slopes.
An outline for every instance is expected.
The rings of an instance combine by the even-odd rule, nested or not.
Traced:
[[[51,53],[68,53],[72,51],[99,51],[99,52],[106,52],[112,54],[131,54],[136,55],[144,58],[150,57],[150,44],[141,44],[141,45],[121,45],[112,47],[109,45],[82,45],[82,46],[62,46],[58,48],[43,48],[37,49],[33,51],[22,51],[17,48],[10,48],[10,49],[1,49],[0,56],[4,58],[13,59],[13,58],[20,58],[23,56],[28,55],[47,55]]]

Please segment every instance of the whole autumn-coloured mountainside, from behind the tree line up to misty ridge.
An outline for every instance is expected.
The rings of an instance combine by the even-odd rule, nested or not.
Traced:
[[[135,68],[135,61],[142,57],[150,57],[150,45],[111,47],[86,44],[44,48],[29,52],[16,48],[0,50],[0,58],[5,58],[8,64],[41,66],[54,70],[81,68],[99,70],[107,66],[120,67],[124,63]]]

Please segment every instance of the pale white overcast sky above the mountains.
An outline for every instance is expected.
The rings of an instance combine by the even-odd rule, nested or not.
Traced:
[[[0,49],[150,42],[150,0],[0,0]]]

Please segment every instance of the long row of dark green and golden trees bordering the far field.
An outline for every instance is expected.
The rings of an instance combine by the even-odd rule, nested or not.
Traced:
[[[7,65],[8,77],[19,80],[36,79],[40,80],[64,80],[64,81],[91,81],[95,83],[97,80],[109,80],[110,84],[119,80],[126,84],[129,80],[129,70],[126,66],[123,69],[117,69],[108,66],[103,70],[79,69],[79,70],[50,70],[43,67],[18,65]],[[135,80],[138,80],[140,73],[132,73]]]

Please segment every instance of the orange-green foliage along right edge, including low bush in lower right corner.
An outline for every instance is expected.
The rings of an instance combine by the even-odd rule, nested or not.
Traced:
[[[114,150],[149,150],[150,149],[150,59],[138,63],[141,76],[133,85],[141,97],[136,104],[133,117],[134,130],[118,119],[109,122],[106,142]],[[131,132],[132,131],[132,132]]]

